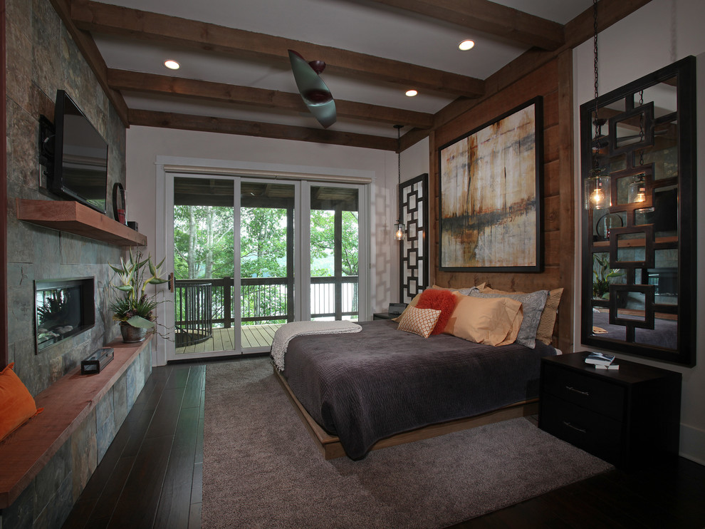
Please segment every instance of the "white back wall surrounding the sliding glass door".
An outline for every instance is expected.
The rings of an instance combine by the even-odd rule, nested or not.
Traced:
[[[372,173],[370,204],[370,314],[387,309],[398,299],[397,245],[392,223],[397,218],[397,155],[395,153],[323,145],[291,140],[272,140],[241,135],[193,132],[133,126],[127,130],[127,220],[135,220],[147,235],[155,255],[157,234],[155,204],[157,157],[223,160],[224,163],[261,163],[330,168],[332,173]],[[402,181],[427,173],[428,140],[402,154]]]

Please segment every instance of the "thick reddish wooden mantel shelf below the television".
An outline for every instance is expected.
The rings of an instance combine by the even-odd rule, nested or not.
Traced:
[[[17,218],[117,246],[147,246],[147,237],[90,207],[70,200],[17,199]]]

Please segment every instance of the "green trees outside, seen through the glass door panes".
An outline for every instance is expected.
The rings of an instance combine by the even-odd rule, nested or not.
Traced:
[[[357,275],[357,212],[343,211],[342,274]],[[286,209],[242,207],[240,225],[241,277],[286,278]],[[310,215],[311,275],[335,274],[335,212],[313,210]],[[232,277],[234,263],[233,208],[174,207],[174,273],[179,279]],[[289,271],[293,273],[293,270]],[[242,314],[286,314],[281,285],[243,289]],[[267,291],[265,289],[272,289]],[[222,317],[223,292],[213,292],[214,317]],[[357,299],[357,285],[355,285]],[[355,309],[357,303],[355,302]]]

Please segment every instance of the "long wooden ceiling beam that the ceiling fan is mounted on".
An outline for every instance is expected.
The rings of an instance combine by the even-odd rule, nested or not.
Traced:
[[[73,0],[71,18],[75,26],[85,31],[218,51],[257,61],[274,61],[286,68],[289,63],[287,50],[294,49],[308,60],[325,61],[328,73],[371,78],[405,88],[455,96],[477,97],[484,94],[484,81],[458,73],[91,0]]]

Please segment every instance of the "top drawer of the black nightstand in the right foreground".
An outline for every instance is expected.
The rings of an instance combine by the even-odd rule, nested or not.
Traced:
[[[617,421],[622,421],[625,413],[625,390],[622,386],[559,366],[544,366],[543,391]]]

